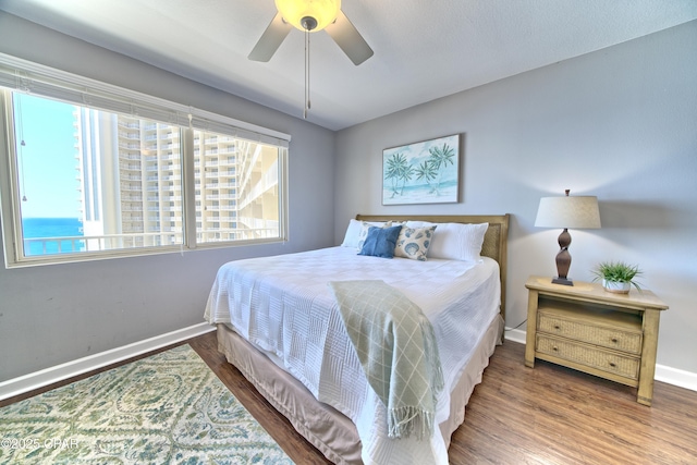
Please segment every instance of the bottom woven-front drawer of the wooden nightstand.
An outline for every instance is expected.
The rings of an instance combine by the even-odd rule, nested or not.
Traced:
[[[536,350],[568,362],[619,375],[639,379],[639,358],[624,356],[611,351],[591,347],[582,343],[537,334]]]

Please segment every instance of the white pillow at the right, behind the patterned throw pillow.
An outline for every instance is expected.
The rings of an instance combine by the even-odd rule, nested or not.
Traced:
[[[450,260],[476,261],[481,254],[484,235],[489,223],[429,223],[426,221],[407,221],[409,228],[437,225],[433,241],[428,249],[430,258],[445,258]]]

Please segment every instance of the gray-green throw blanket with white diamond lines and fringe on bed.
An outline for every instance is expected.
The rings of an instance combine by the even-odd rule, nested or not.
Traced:
[[[430,437],[443,389],[430,321],[384,281],[332,281],[329,286],[368,382],[387,407],[389,437]]]

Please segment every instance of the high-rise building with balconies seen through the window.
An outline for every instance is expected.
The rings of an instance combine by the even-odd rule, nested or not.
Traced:
[[[182,131],[75,109],[88,249],[183,242]],[[194,131],[197,243],[278,236],[278,148]],[[89,238],[91,237],[91,238]]]

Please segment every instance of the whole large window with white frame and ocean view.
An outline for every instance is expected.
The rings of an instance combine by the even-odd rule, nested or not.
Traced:
[[[17,62],[0,54],[8,266],[285,240],[288,136]]]

